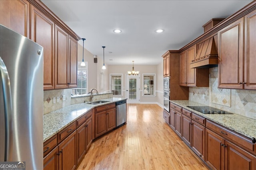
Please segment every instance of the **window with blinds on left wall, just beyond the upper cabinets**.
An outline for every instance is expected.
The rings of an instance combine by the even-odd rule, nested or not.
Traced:
[[[72,89],[73,95],[87,94],[87,66],[88,62],[85,62],[85,66],[80,66],[81,62],[78,62],[77,69],[77,88]]]

